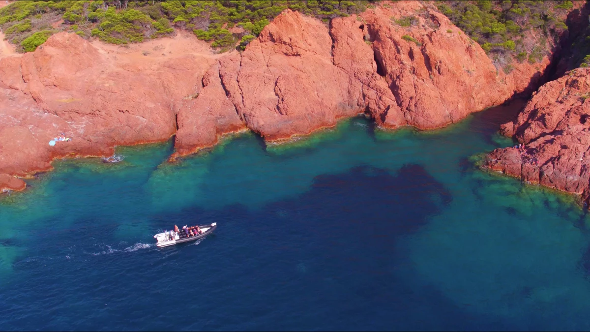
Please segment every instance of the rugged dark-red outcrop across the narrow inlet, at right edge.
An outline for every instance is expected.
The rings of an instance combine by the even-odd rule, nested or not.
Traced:
[[[590,70],[576,69],[540,87],[501,131],[524,148],[496,149],[485,166],[523,181],[590,196]]]

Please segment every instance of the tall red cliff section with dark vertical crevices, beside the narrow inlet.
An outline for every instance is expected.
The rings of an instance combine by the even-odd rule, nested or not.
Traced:
[[[408,28],[391,19],[416,14],[418,24]],[[361,17],[379,74],[395,96],[389,112],[371,108],[376,121],[388,128],[408,124],[432,129],[456,122],[522,92],[549,64],[544,59],[538,70],[516,64],[509,75],[497,71],[477,43],[440,12],[418,2],[377,8]],[[391,113],[395,106],[399,111]]]

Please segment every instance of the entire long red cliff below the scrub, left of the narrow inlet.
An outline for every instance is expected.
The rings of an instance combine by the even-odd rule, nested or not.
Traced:
[[[392,22],[406,15],[418,24]],[[54,158],[111,155],[116,145],[176,134],[175,160],[230,132],[278,141],[358,113],[385,128],[440,128],[534,86],[548,63],[497,71],[477,43],[418,2],[330,27],[286,10],[243,53],[215,54],[184,32],[126,48],[61,32],[33,53],[0,58],[0,173],[26,177]],[[72,140],[48,145],[61,133]]]

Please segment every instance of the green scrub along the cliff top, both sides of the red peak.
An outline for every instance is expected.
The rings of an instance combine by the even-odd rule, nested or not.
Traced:
[[[171,35],[175,28],[194,32],[220,51],[235,46],[244,50],[284,9],[329,22],[365,11],[376,2],[379,1],[17,1],[0,9],[0,28],[19,51],[34,51],[51,34],[62,30],[76,32],[83,38],[97,37],[106,43],[127,44]],[[567,29],[563,19],[573,7],[572,1],[478,0],[434,4],[504,70],[510,70],[513,59],[540,61]],[[412,18],[398,19],[396,23],[412,25]]]

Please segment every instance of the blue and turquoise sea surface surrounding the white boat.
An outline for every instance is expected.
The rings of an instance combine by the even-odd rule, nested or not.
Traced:
[[[55,162],[0,199],[0,330],[589,330],[585,211],[477,166],[521,107]]]

